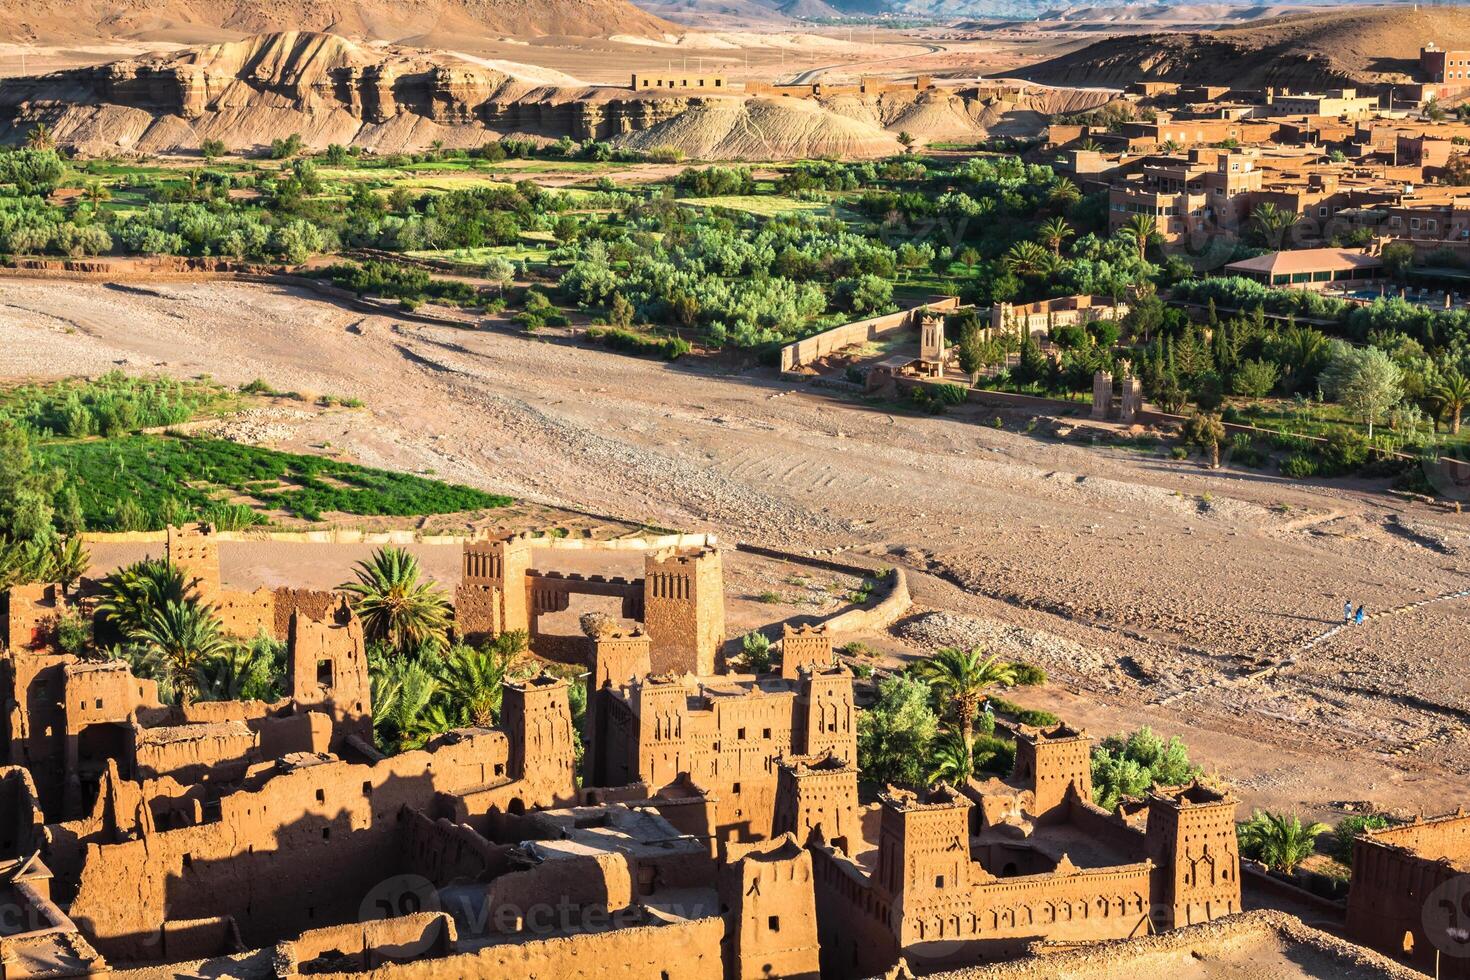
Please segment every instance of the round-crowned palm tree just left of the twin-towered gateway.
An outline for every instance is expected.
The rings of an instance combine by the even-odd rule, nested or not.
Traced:
[[[419,560],[403,548],[379,548],[357,563],[357,580],[341,586],[363,621],[368,639],[398,652],[415,646],[442,648],[448,633],[448,604],[432,582],[419,580]]]

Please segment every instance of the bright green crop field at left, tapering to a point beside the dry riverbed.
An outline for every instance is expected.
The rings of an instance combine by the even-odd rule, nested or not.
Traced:
[[[225,439],[126,435],[51,442],[37,453],[66,473],[94,530],[121,529],[119,523],[138,523],[138,516],[144,527],[126,529],[157,530],[232,502],[309,522],[326,514],[453,514],[512,502],[469,486]],[[129,501],[128,522],[119,520],[122,501]]]

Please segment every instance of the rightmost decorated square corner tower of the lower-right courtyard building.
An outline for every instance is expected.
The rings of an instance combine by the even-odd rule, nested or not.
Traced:
[[[1154,926],[1180,929],[1241,911],[1235,799],[1195,782],[1148,795],[1148,857],[1160,876]]]

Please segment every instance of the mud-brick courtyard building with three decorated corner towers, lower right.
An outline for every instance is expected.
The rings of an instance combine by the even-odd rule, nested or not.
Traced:
[[[1241,911],[1235,801],[1155,790],[1144,821],[1092,804],[1089,739],[1016,730],[1010,779],[881,796],[876,839],[811,845],[825,976],[1019,955],[1044,936],[1095,942]]]

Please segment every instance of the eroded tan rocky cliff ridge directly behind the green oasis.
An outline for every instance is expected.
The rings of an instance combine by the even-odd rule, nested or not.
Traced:
[[[898,134],[978,140],[1038,132],[1105,94],[1035,90],[835,93],[822,98],[684,96],[585,85],[512,62],[281,32],[97,68],[0,81],[0,143],[38,122],[84,154],[237,151],[300,134],[379,153],[501,137],[675,147],[692,159],[881,157]]]

